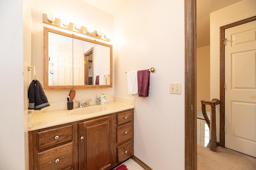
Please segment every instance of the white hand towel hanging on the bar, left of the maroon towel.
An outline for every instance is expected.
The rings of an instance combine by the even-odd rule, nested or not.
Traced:
[[[138,93],[138,71],[128,71],[127,72],[127,86],[128,94]]]

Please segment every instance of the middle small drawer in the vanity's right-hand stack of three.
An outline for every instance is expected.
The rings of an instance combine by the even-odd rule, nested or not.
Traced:
[[[128,139],[132,139],[133,129],[132,123],[126,123],[117,127],[117,143],[121,143]]]

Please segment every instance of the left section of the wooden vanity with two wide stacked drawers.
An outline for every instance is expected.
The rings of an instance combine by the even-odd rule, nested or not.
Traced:
[[[30,131],[30,170],[77,169],[76,125],[66,124]]]

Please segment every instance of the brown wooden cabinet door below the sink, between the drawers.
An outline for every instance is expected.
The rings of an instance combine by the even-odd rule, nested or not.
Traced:
[[[114,165],[114,117],[78,124],[80,170],[109,170]]]

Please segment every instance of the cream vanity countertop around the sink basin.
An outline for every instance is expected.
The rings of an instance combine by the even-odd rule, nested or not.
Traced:
[[[70,111],[74,111],[75,109],[82,109],[78,107],[74,107],[72,110],[68,109],[59,109],[59,110],[52,110],[52,111],[41,111],[41,112],[34,112],[31,116],[31,127],[28,129],[28,131],[34,131],[37,129],[42,129],[46,127],[52,127],[56,125],[61,125],[64,123],[70,123],[74,121],[80,121],[84,119],[89,119],[92,117],[107,115],[110,113],[115,113],[118,111],[124,111],[127,109],[132,109],[134,106],[122,104],[118,102],[110,102],[107,104],[102,105],[92,105],[88,107],[93,106],[103,106],[107,107],[106,110],[97,112],[97,113],[91,113],[91,114],[84,114],[84,115],[74,115],[71,114]]]

